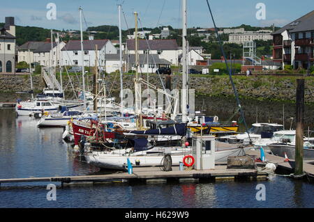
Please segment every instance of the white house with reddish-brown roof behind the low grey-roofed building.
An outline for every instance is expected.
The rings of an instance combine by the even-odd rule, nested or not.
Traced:
[[[178,45],[176,40],[138,40],[138,54],[154,54],[160,59],[170,61],[172,65],[178,65]],[[135,40],[126,40],[126,54],[135,54]]]

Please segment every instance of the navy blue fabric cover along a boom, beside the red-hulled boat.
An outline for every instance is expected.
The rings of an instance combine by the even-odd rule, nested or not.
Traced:
[[[161,129],[149,129],[144,131],[134,130],[130,133],[140,134],[140,135],[178,135],[185,136],[186,135],[186,124],[176,124],[174,127],[167,127]]]

